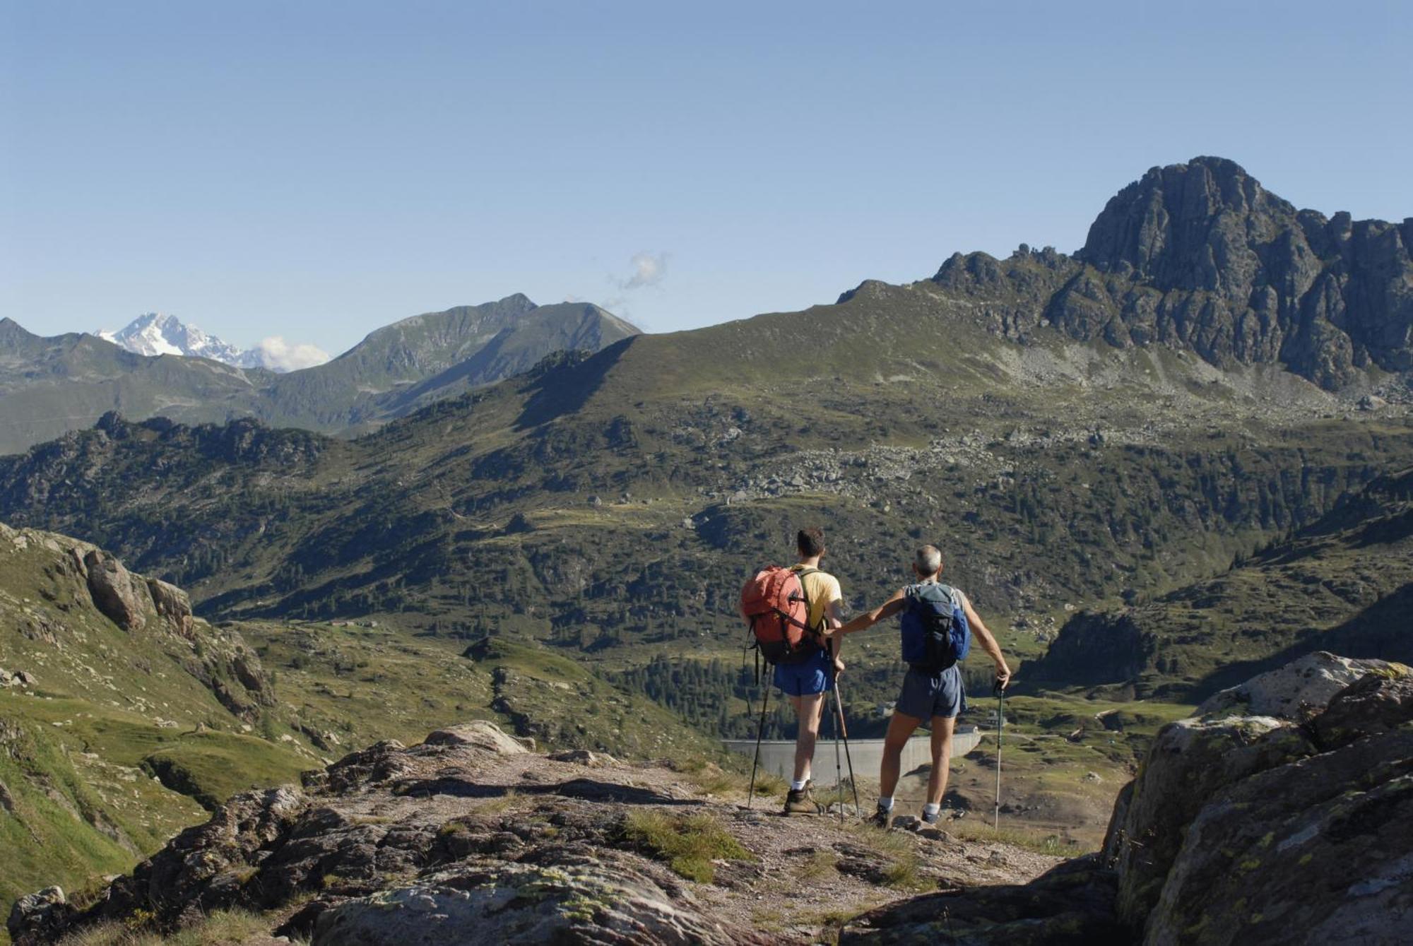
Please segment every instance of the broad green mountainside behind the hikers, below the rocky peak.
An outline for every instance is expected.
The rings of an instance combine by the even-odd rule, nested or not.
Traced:
[[[732,333],[760,335],[722,326],[687,354],[633,339],[352,442],[110,418],[0,462],[0,513],[117,548],[212,617],[396,617],[619,671],[664,651],[728,658],[743,575],[786,558],[803,521],[825,525],[852,607],[940,541],[1007,644],[1039,655],[1067,606],[1217,573],[1413,463],[1400,409],[1349,411],[1273,369],[1019,346],[965,322],[931,350],[886,347],[910,337],[913,306],[945,323],[947,305],[880,287],[759,321],[777,352],[805,319],[841,346],[879,340],[873,364],[841,352],[828,381],[742,371],[708,394],[726,369],[695,346],[729,354]],[[876,685],[858,699],[892,699],[892,641],[859,648]]]

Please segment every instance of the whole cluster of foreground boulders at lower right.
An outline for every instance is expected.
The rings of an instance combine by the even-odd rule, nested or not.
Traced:
[[[1121,922],[1152,946],[1402,942],[1413,916],[1407,668],[1316,654],[1212,700],[1241,705],[1287,716],[1173,723],[1121,794],[1105,844]]]

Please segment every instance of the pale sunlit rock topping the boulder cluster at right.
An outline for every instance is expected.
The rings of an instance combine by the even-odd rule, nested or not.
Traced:
[[[1251,678],[1245,683],[1210,696],[1197,707],[1198,716],[1279,716],[1301,720],[1316,713],[1335,693],[1369,672],[1392,672],[1397,664],[1373,659],[1351,659],[1327,651],[1316,651]]]

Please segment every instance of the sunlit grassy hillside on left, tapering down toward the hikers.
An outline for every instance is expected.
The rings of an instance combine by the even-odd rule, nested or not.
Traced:
[[[96,546],[0,525],[0,908],[130,868],[233,792],[489,719],[629,758],[719,748],[582,665],[396,624],[208,624]]]

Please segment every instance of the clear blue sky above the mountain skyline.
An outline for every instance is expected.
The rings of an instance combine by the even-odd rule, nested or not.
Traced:
[[[0,315],[45,335],[160,309],[339,352],[510,292],[699,326],[1074,250],[1198,154],[1413,215],[1392,0],[0,10]]]

